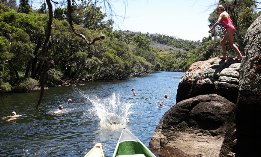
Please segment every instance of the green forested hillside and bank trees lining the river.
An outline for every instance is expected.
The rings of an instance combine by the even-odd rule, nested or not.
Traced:
[[[105,20],[107,15],[102,13],[101,7],[85,1],[80,6],[72,4],[74,29],[89,41],[106,36],[104,40],[87,44],[72,30],[66,7],[53,8],[50,36],[46,38],[50,21],[46,3],[33,10],[28,1],[19,6],[13,1],[0,2],[0,93],[31,91],[38,86],[45,68],[46,85],[60,85],[66,80],[67,83],[117,80],[154,71],[185,72],[193,62],[222,52],[222,25],[202,41],[113,31],[113,21]],[[242,49],[244,34],[258,16],[254,9],[247,7],[255,7],[256,3],[240,1],[235,5],[228,1],[225,4],[229,11],[233,10],[231,18],[238,30],[235,43]],[[210,27],[217,18],[213,11],[209,17]],[[228,51],[229,55],[234,55],[233,51]],[[49,64],[44,64],[45,61]]]

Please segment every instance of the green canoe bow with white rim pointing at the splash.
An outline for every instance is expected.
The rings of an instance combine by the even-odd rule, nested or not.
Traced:
[[[113,157],[156,157],[127,128],[122,129]]]

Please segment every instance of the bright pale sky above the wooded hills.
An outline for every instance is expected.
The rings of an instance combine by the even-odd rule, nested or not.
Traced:
[[[114,30],[202,40],[209,35],[208,17],[217,7],[217,2],[218,0],[112,0],[112,10],[117,15],[113,16]]]

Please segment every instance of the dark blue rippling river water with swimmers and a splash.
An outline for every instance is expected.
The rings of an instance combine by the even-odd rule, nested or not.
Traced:
[[[2,94],[0,156],[80,157],[101,143],[104,155],[111,157],[124,127],[148,147],[161,117],[176,104],[182,75],[157,72],[121,81],[51,87],[44,91],[38,111],[40,91]],[[73,104],[67,103],[69,98]],[[165,108],[157,107],[160,101]],[[64,109],[58,110],[58,105]],[[2,119],[12,111],[26,117]]]

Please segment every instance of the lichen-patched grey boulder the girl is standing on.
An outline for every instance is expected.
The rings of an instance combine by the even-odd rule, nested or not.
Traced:
[[[240,63],[241,61],[232,58],[211,58],[193,63],[180,80],[176,102],[197,95],[216,93],[236,103]]]

